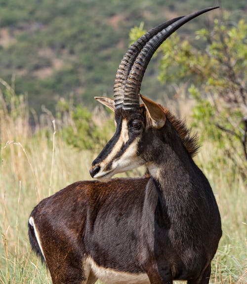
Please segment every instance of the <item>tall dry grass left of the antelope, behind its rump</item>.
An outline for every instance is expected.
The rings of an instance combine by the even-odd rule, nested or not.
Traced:
[[[0,283],[50,283],[45,267],[30,251],[29,214],[44,197],[89,179],[94,154],[66,145],[52,123],[46,125],[48,137],[39,127],[34,133],[25,98],[5,87],[7,102],[0,93]]]

